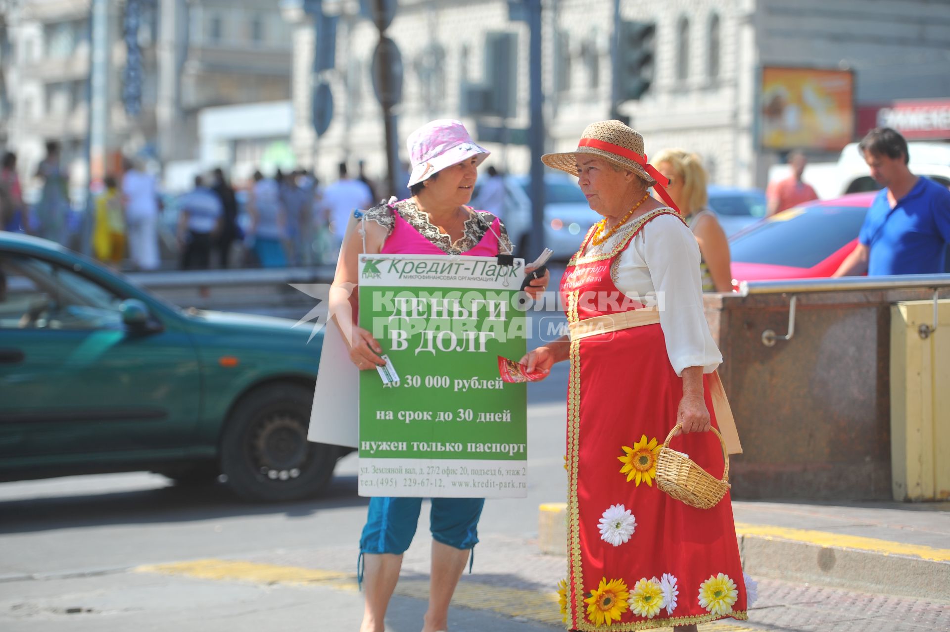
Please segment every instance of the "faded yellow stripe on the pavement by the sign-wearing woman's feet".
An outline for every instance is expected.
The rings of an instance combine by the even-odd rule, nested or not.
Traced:
[[[356,576],[352,573],[298,566],[256,564],[239,560],[195,560],[138,566],[133,570],[138,573],[183,575],[204,580],[258,584],[317,584],[349,592],[357,590]],[[396,594],[401,597],[428,600],[428,580],[400,580],[399,584],[396,584]],[[472,610],[488,610],[506,617],[561,625],[557,592],[461,582],[455,589],[452,603]],[[760,632],[759,628],[735,625],[731,622],[707,623],[700,625],[699,629],[708,632]]]

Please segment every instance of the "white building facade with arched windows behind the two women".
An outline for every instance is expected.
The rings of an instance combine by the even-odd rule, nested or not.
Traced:
[[[385,170],[381,108],[371,87],[371,58],[378,31],[359,14],[360,3],[324,0],[338,15],[335,67],[320,73],[333,90],[333,122],[317,138],[312,124],[314,27],[296,3],[286,3],[294,29],[292,143],[300,163],[329,175],[342,160],[365,160],[371,175]],[[542,2],[542,81],[545,146],[576,146],[586,124],[611,112],[611,35],[614,3],[608,0]],[[648,154],[683,147],[703,156],[712,181],[764,186],[769,166],[790,148],[763,146],[763,68],[845,70],[853,81],[852,109],[895,98],[950,95],[950,22],[945,3],[925,0],[619,0],[623,20],[656,24],[655,76],[637,101],[618,112],[646,140]],[[466,116],[466,83],[491,82],[485,35],[517,38],[518,92],[510,128],[528,124],[527,26],[509,20],[504,0],[401,0],[388,35],[404,68],[403,100],[395,108],[400,144],[434,118]],[[793,112],[789,112],[793,113]],[[498,126],[497,119],[483,124]],[[845,130],[847,131],[847,130]],[[853,135],[853,132],[850,132]],[[486,143],[489,163],[513,173],[528,169],[523,145]],[[807,149],[813,160],[833,160],[840,147]],[[406,150],[401,146],[401,155]]]

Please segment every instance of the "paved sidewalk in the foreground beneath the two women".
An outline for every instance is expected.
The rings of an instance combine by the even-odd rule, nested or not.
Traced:
[[[416,632],[428,597],[428,541],[417,538],[390,605],[389,632]],[[9,577],[0,583],[0,629],[20,632],[129,629],[237,632],[293,626],[354,630],[362,612],[354,546],[266,550],[234,559],[104,569],[81,577]],[[556,582],[561,556],[537,541],[485,534],[474,572],[453,600],[454,632],[563,629]],[[703,632],[946,632],[950,602],[756,578],[749,622],[701,625]],[[169,604],[174,604],[169,611]],[[206,620],[206,623],[204,621]]]

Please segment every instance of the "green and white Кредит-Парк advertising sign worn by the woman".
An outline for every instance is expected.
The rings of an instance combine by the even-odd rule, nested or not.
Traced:
[[[521,358],[523,261],[360,257],[359,325],[398,381],[360,373],[361,496],[524,497],[527,392],[499,377]]]

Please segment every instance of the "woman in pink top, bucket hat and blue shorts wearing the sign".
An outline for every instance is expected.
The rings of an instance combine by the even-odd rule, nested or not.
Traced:
[[[411,197],[402,201],[393,198],[365,214],[355,214],[356,230],[350,230],[343,241],[330,293],[331,313],[344,332],[353,364],[362,371],[386,363],[379,357],[379,343],[369,331],[356,325],[357,263],[361,254],[511,254],[511,241],[501,220],[466,205],[478,177],[478,165],[488,152],[472,141],[465,126],[458,121],[433,121],[412,132],[408,145],[413,165]],[[545,274],[532,281],[528,294],[543,292],[548,280]],[[448,603],[478,543],[478,520],[484,504],[483,498],[432,499],[432,570],[423,632],[448,628]],[[361,632],[385,629],[386,608],[399,580],[403,552],[415,533],[421,505],[421,498],[370,500],[360,538],[362,570],[357,562],[358,579],[366,588]]]

